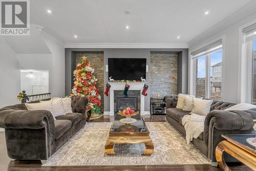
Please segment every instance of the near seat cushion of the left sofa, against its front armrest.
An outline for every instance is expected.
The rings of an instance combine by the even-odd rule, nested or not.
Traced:
[[[55,124],[55,139],[59,139],[64,133],[71,128],[70,120],[54,120]]]

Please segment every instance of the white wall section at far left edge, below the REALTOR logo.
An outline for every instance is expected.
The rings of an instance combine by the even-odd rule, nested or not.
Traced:
[[[20,73],[16,53],[0,36],[0,108],[18,103]]]

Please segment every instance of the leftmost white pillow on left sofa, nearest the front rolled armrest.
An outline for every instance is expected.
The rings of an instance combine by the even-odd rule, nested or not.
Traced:
[[[50,111],[53,115],[52,99],[47,101],[42,101],[40,103],[25,103],[25,105],[29,111],[45,110],[45,111]],[[56,120],[54,115],[53,115],[53,118],[54,120]]]

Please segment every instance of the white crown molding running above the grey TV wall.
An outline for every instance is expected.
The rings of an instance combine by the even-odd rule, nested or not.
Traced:
[[[188,48],[187,44],[148,44],[148,43],[93,43],[66,44],[65,48],[140,48],[140,49],[177,49]]]

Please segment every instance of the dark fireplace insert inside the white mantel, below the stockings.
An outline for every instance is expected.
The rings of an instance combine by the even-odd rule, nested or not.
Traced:
[[[128,91],[128,96],[123,95],[123,91],[116,90],[114,91],[114,105],[115,113],[119,110],[122,111],[127,107],[131,108],[134,111],[140,110],[140,91],[139,90],[130,90]]]

